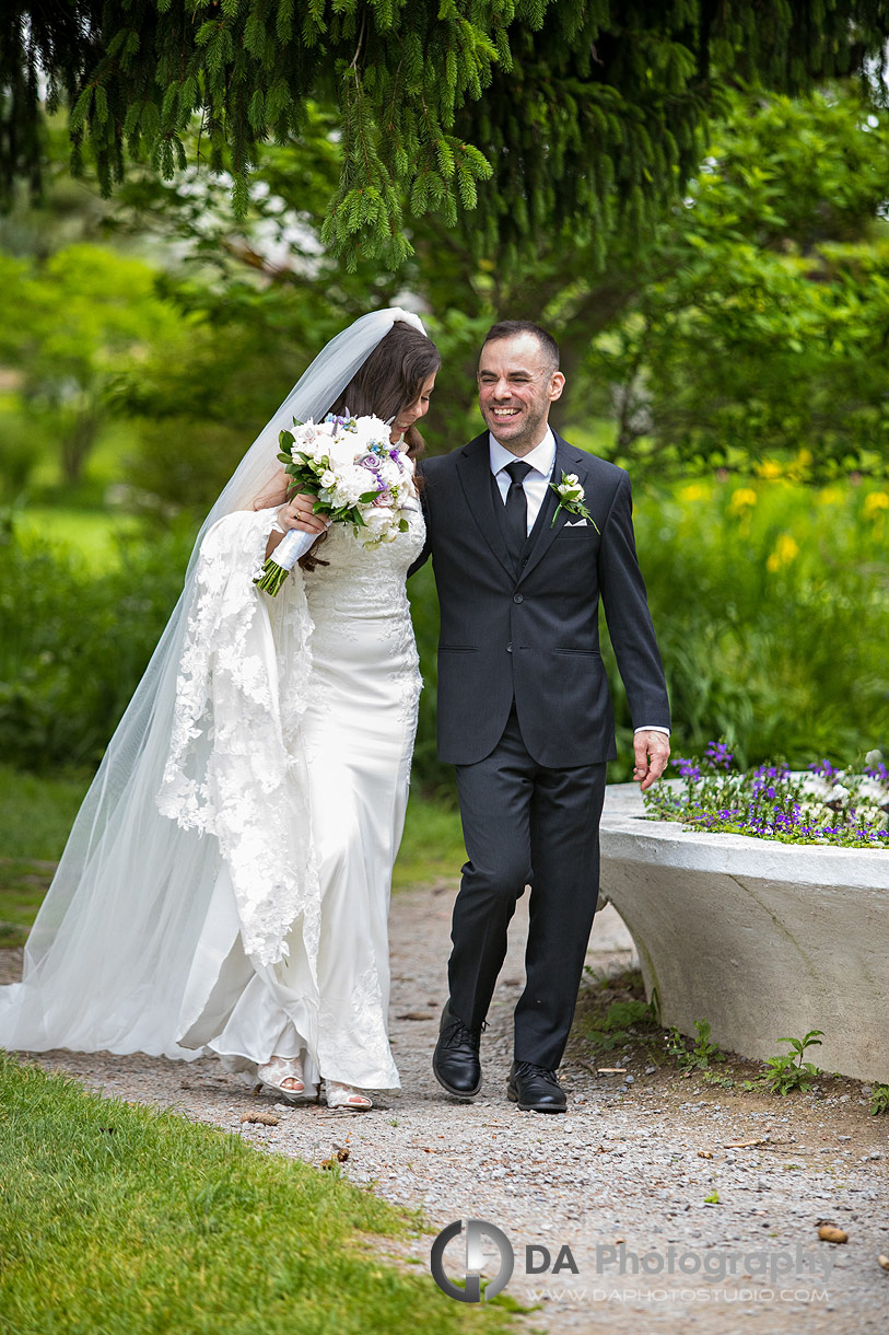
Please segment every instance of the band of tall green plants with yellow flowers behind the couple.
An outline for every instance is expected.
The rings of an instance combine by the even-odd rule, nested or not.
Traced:
[[[761,479],[637,493],[637,542],[674,712],[674,753],[725,736],[744,762],[842,762],[889,736],[889,491]],[[31,769],[96,764],[182,587],[190,538],[128,541],[92,569],[32,531],[0,542],[0,753]],[[103,558],[105,563],[105,558]],[[410,583],[422,673],[414,778],[435,758],[438,614]],[[607,650],[621,760],[631,722]]]

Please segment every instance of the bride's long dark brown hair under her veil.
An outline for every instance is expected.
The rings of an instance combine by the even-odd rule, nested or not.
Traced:
[[[358,374],[331,405],[330,411],[346,413],[348,409],[352,417],[372,414],[388,422],[418,399],[423,384],[440,364],[440,354],[431,338],[404,320],[395,320],[388,334],[379,340]],[[411,426],[404,433],[404,441],[407,454],[415,459],[423,449],[423,437],[415,426]],[[327,565],[318,558],[318,549],[326,537],[323,533],[312,543],[311,550],[300,558],[299,565],[303,570]]]

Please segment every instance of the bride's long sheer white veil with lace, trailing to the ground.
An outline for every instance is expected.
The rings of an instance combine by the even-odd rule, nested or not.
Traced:
[[[207,515],[182,597],[83,801],[24,951],[0,989],[0,1047],[147,1052],[176,1043],[214,886],[231,874],[244,945],[286,953],[318,930],[300,784],[300,686],[311,625],[299,581],[256,594],[279,471],[278,434],[328,411],[391,330],[398,307],[355,320],[315,358]]]

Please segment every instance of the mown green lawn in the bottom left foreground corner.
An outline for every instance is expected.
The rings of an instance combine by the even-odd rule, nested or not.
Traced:
[[[0,1311],[9,1335],[505,1331],[424,1267],[419,1231],[339,1172],[172,1111],[88,1093],[0,1052]]]

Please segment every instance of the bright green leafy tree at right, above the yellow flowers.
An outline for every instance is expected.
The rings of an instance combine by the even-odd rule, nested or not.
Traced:
[[[885,112],[838,91],[738,97],[586,360],[617,457],[884,474],[888,196]]]

